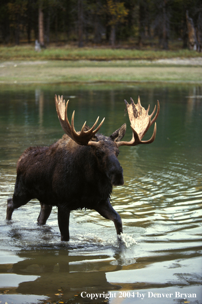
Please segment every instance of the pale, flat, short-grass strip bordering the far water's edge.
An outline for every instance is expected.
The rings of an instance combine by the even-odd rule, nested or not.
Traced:
[[[189,82],[202,83],[201,66],[120,62],[10,61],[0,63],[1,84],[62,82]]]

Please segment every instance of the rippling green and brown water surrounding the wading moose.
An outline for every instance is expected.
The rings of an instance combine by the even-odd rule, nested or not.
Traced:
[[[102,133],[126,122],[125,140],[123,100],[140,95],[151,109],[160,101],[155,142],[120,147],[125,183],[112,198],[120,239],[112,222],[82,210],[71,212],[70,241],[61,242],[57,208],[40,227],[37,200],[5,220],[19,155],[63,134],[55,93],[70,99],[76,129],[106,117]],[[201,303],[202,87],[2,86],[0,95],[1,303]]]

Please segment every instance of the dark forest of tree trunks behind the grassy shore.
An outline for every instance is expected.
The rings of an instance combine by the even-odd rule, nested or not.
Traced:
[[[0,44],[201,51],[201,0],[1,0]]]

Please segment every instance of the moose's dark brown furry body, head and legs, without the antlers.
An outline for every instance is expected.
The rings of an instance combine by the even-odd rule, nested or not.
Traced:
[[[69,240],[69,214],[76,209],[94,209],[113,220],[117,234],[122,232],[119,214],[110,204],[113,185],[123,184],[123,171],[117,159],[116,141],[122,139],[125,125],[111,136],[96,134],[99,147],[81,146],[63,135],[50,147],[30,147],[17,162],[13,198],[8,199],[7,219],[14,209],[38,199],[38,223],[44,225],[58,207],[61,240]]]

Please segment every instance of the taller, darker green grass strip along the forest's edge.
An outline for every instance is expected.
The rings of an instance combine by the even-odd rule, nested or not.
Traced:
[[[157,60],[165,58],[202,57],[202,53],[188,49],[138,50],[96,47],[54,47],[35,51],[34,45],[0,46],[0,60]]]

